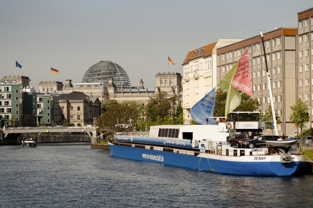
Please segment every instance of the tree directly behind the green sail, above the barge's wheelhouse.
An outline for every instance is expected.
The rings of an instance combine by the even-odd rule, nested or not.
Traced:
[[[240,92],[241,104],[233,111],[257,111],[261,104],[256,98],[250,97],[244,92]],[[225,103],[226,103],[227,91],[222,88],[218,88],[215,93],[215,106],[213,111],[214,117],[225,116]]]

